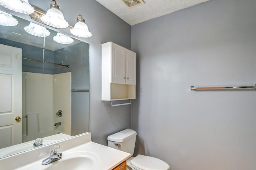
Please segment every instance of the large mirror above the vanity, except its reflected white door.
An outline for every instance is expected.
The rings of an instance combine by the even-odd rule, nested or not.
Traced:
[[[0,158],[34,148],[36,138],[45,145],[89,131],[89,44],[58,43],[66,37],[49,28],[34,36],[30,21],[13,17],[18,25],[0,25],[0,44],[22,49],[22,143],[1,140]]]

